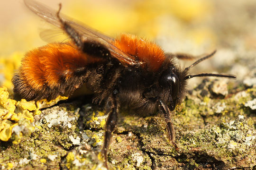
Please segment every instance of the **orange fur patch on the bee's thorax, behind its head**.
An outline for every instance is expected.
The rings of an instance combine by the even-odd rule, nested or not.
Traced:
[[[144,62],[144,68],[152,71],[157,71],[165,60],[165,52],[160,46],[135,35],[121,34],[113,44],[123,52],[137,57]]]

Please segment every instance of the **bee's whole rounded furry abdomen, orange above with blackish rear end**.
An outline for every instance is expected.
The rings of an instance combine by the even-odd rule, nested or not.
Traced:
[[[69,43],[50,43],[29,51],[12,78],[14,92],[28,101],[70,95],[84,82],[86,65],[95,62],[89,57]]]

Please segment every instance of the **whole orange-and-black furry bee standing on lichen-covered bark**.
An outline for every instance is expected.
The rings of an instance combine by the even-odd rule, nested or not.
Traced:
[[[13,76],[14,92],[26,100],[70,96],[82,85],[94,94],[93,103],[104,104],[108,118],[102,155],[107,167],[107,152],[117,124],[119,108],[137,114],[163,113],[169,141],[177,149],[171,115],[186,94],[187,80],[196,76],[236,78],[225,74],[190,75],[189,69],[210,58],[216,51],[180,68],[175,59],[191,55],[165,53],[154,42],[135,35],[111,38],[89,26],[82,26],[37,1],[24,0],[27,7],[50,24],[61,28],[71,41],[49,43],[27,52]]]

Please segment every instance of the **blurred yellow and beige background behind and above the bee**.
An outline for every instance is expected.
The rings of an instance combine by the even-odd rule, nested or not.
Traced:
[[[39,0],[40,1],[40,0]],[[256,0],[41,0],[76,20],[116,37],[137,34],[166,52],[217,54],[192,73],[223,72],[256,84]],[[33,48],[60,41],[23,0],[0,1],[0,86],[10,83],[20,59]],[[53,27],[54,29],[54,27]],[[41,37],[40,37],[41,34]],[[46,38],[44,38],[46,37]],[[64,39],[62,39],[64,40]],[[188,66],[193,61],[181,62]],[[190,88],[200,79],[190,81]]]

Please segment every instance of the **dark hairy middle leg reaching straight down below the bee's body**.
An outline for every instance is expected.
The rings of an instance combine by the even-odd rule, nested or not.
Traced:
[[[118,103],[115,96],[110,96],[106,102],[106,110],[109,112],[109,117],[105,126],[104,142],[101,153],[105,159],[105,166],[108,168],[107,153],[112,137],[112,132],[117,124],[118,119]]]

